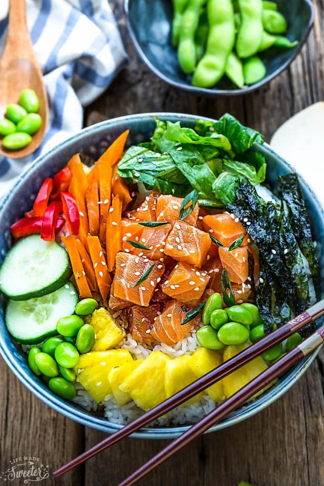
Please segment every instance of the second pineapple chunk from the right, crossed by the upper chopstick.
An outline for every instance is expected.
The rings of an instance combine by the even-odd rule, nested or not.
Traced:
[[[219,366],[222,361],[222,354],[219,351],[199,347],[191,356],[189,366],[196,377],[201,378],[204,374]],[[206,391],[214,402],[221,402],[225,398],[222,380],[211,385]]]

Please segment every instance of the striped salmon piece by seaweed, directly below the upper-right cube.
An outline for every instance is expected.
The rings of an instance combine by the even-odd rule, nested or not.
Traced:
[[[232,251],[225,247],[219,248],[219,255],[230,281],[245,282],[249,276],[248,247],[239,247]]]

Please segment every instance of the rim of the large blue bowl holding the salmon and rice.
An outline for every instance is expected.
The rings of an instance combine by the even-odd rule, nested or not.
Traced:
[[[57,152],[57,150],[64,149],[69,147],[71,144],[74,143],[76,139],[82,139],[84,135],[90,135],[93,131],[101,131],[106,127],[118,125],[119,123],[126,123],[128,120],[145,120],[145,119],[152,119],[159,117],[164,119],[176,118],[181,121],[194,121],[197,119],[202,119],[206,121],[215,121],[211,118],[207,117],[200,117],[198,115],[189,115],[189,114],[182,114],[182,113],[171,113],[171,112],[158,112],[158,113],[141,113],[141,114],[134,114],[134,115],[125,115],[117,118],[113,118],[110,120],[105,120],[95,125],[91,125],[89,127],[83,128],[77,134],[73,135],[69,139],[59,143],[56,147],[52,148],[45,154],[42,154],[34,162],[32,162],[26,169],[21,173],[18,180],[16,181],[15,185],[11,189],[11,191],[7,194],[7,196],[3,199],[0,205],[0,214],[6,209],[6,205],[12,197],[12,193],[15,189],[20,186],[20,184],[24,184],[24,179],[26,176],[31,173],[37,166],[41,163],[48,163],[48,160],[51,158],[51,154],[53,152]],[[264,144],[264,147],[273,154],[280,162],[284,163],[285,166],[291,170],[295,171],[295,169],[286,162],[282,157],[278,156],[268,144]],[[299,175],[299,174],[298,174]],[[311,195],[314,196],[314,199],[321,210],[324,212],[324,207],[321,204],[319,198],[315,195],[313,189],[309,186],[307,181],[303,178],[303,176],[299,175],[305,187],[310,191]],[[5,327],[6,329],[6,327]],[[9,336],[9,333],[6,329],[6,333]],[[10,338],[10,336],[9,336]],[[11,338],[10,338],[11,339]],[[315,360],[318,350],[315,350],[313,354],[305,358],[303,361],[297,363],[289,372],[289,374],[284,377],[284,379],[280,380],[275,387],[271,387],[267,390],[261,397],[259,397],[254,402],[249,402],[248,407],[249,410],[246,410],[246,405],[239,409],[239,415],[233,416],[233,414],[237,414],[237,411],[230,414],[227,418],[221,421],[219,424],[214,425],[211,427],[207,433],[214,432],[217,430],[224,429],[226,427],[236,425],[243,420],[253,416],[257,412],[264,410],[270,404],[275,402],[280,396],[282,396],[286,391],[288,391],[294,383],[306,372],[312,362]],[[109,422],[108,419],[96,416],[88,412],[87,410],[78,407],[76,404],[72,402],[68,402],[65,400],[60,399],[58,396],[54,395],[47,387],[45,387],[42,383],[38,383],[35,379],[33,379],[27,371],[24,370],[23,366],[19,364],[15,357],[11,354],[8,350],[8,347],[5,342],[5,336],[0,333],[0,354],[3,356],[5,362],[12,370],[12,372],[16,375],[16,377],[28,388],[34,395],[38,397],[42,402],[53,408],[55,411],[63,414],[64,416],[78,422],[84,426],[92,427],[97,430],[106,432],[106,433],[113,433],[123,426],[114,424]],[[37,377],[36,377],[37,378]],[[36,384],[35,384],[36,383]],[[168,427],[152,427],[152,428],[142,428],[140,431],[132,434],[134,438],[148,438],[148,439],[172,439],[176,438],[181,435],[183,432],[188,430],[190,426],[168,426]]]

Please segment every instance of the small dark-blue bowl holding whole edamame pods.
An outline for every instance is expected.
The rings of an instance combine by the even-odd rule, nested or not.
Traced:
[[[237,88],[226,76],[210,89],[191,86],[191,75],[179,66],[171,43],[171,0],[124,0],[127,27],[135,49],[147,67],[163,81],[201,96],[233,96],[251,93],[286,69],[303,47],[314,23],[311,0],[276,0],[288,21],[287,37],[298,40],[294,49],[271,48],[262,53],[267,76],[252,86]]]

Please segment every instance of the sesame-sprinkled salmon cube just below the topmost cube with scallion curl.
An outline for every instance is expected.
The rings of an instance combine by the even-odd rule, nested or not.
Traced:
[[[201,268],[210,245],[207,233],[178,220],[167,237],[164,253]]]

